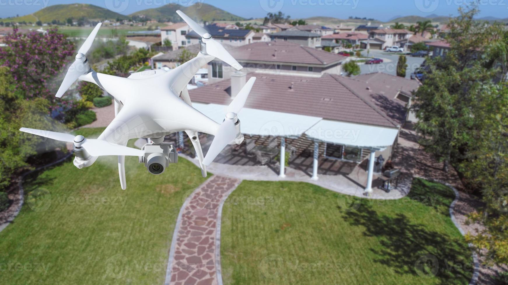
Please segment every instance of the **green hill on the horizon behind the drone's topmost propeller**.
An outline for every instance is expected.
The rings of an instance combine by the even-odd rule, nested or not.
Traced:
[[[171,22],[181,22],[182,18],[176,14],[176,10],[182,10],[190,18],[200,21],[243,21],[242,17],[233,15],[222,9],[209,4],[195,4],[192,6],[181,6],[179,4],[168,4],[162,7],[146,9],[135,12],[129,16],[146,16],[153,20],[166,20]]]

